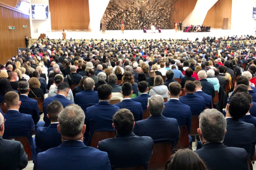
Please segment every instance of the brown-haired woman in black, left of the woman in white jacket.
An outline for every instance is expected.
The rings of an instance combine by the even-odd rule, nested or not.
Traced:
[[[42,89],[40,89],[41,83],[37,78],[31,78],[28,81],[30,91],[28,94],[29,98],[41,97],[42,100],[45,100],[45,95],[43,95]]]

